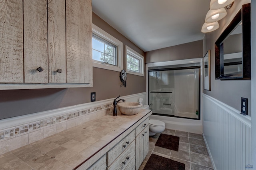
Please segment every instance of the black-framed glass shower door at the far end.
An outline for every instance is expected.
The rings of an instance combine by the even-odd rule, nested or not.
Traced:
[[[148,70],[153,114],[200,120],[200,66]]]

